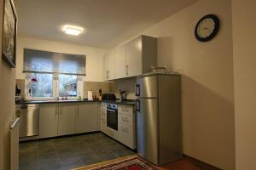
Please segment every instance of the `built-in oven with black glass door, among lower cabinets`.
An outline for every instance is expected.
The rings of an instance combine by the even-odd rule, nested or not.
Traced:
[[[107,126],[118,130],[118,106],[107,104]]]

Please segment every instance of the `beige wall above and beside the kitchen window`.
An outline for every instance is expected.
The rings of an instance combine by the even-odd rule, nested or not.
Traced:
[[[23,69],[23,48],[48,50],[67,54],[86,55],[86,81],[102,81],[102,56],[108,52],[105,48],[92,48],[77,44],[42,40],[33,37],[18,37],[16,79],[25,79]]]

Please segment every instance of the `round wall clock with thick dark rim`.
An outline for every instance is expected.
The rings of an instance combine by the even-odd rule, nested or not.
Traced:
[[[195,37],[200,42],[210,41],[218,33],[219,20],[214,14],[207,14],[195,26]]]

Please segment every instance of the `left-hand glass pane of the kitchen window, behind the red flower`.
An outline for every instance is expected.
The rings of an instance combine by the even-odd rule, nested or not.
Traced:
[[[54,96],[52,74],[32,73],[30,76],[33,98],[49,98]]]

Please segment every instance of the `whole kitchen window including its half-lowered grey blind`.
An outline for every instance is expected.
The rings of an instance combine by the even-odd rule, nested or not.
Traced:
[[[33,100],[74,99],[83,94],[85,55],[25,48],[23,63],[25,94]]]

